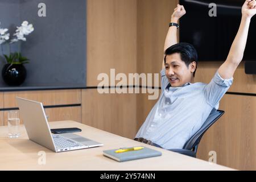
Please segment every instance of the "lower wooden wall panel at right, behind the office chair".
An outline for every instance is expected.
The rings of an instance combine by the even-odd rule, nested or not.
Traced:
[[[217,164],[256,170],[256,97],[225,94],[220,109],[225,114],[204,134],[197,158],[208,161],[216,151]]]

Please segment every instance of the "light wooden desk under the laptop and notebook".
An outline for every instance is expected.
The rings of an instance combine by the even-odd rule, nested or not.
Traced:
[[[79,127],[82,132],[77,134],[101,142],[104,146],[55,153],[28,140],[26,130],[21,125],[20,138],[0,137],[0,170],[232,170],[74,121],[49,122],[49,125],[51,128]],[[1,126],[0,136],[6,133],[7,127]],[[119,163],[102,155],[103,150],[131,146],[147,146],[161,151],[162,156]],[[39,151],[46,152],[46,164],[38,164]]]

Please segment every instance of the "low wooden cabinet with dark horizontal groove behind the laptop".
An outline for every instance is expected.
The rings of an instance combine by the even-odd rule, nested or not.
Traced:
[[[48,121],[81,122],[81,89],[13,91],[0,93],[0,125],[7,125],[8,110],[18,109],[15,97],[42,102]],[[23,123],[22,119],[20,122]]]

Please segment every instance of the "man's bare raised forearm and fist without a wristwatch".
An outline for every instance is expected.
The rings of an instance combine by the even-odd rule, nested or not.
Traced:
[[[231,78],[234,75],[238,65],[242,61],[245,51],[250,20],[256,14],[256,1],[246,0],[242,6],[242,19],[236,38],[230,48],[226,61],[218,69],[218,73],[224,79]]]

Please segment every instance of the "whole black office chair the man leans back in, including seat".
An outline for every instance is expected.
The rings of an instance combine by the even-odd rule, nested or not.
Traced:
[[[169,149],[173,152],[178,152],[179,154],[184,154],[196,158],[196,151],[201,138],[203,137],[205,131],[213,125],[214,122],[224,114],[223,110],[212,110],[204,122],[203,126],[184,144],[182,149]]]

